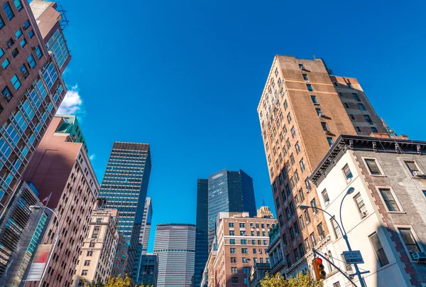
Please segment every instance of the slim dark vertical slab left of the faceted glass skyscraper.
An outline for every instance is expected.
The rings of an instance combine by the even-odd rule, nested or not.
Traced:
[[[195,228],[195,274],[194,286],[200,287],[202,273],[209,257],[209,180],[197,180],[197,219]]]

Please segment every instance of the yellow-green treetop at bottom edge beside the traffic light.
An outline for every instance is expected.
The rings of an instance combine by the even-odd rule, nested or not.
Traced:
[[[269,274],[266,274],[265,278],[261,280],[262,287],[322,287],[322,282],[316,280],[310,276],[309,273],[302,274],[300,272],[294,278],[285,279],[281,274],[275,274],[275,276],[270,277]]]

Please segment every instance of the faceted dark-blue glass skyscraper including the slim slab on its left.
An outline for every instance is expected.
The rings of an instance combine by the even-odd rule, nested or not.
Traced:
[[[256,216],[253,179],[243,170],[220,170],[197,181],[197,234],[195,243],[195,287],[212,249],[219,212],[249,212]]]

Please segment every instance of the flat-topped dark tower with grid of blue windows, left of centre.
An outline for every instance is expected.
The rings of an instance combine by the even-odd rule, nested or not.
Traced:
[[[114,142],[99,197],[107,200],[106,208],[119,210],[119,234],[129,242],[126,266],[129,276],[136,261],[150,173],[149,144]]]

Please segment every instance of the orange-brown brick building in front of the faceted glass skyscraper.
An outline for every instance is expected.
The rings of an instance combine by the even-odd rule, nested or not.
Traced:
[[[275,218],[250,217],[249,212],[219,212],[214,261],[207,260],[212,268],[202,281],[209,287],[248,286],[252,266],[269,264],[268,232],[276,222]]]

